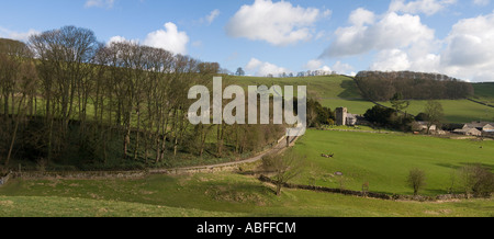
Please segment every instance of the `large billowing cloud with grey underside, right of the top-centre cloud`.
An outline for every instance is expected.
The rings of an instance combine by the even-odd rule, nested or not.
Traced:
[[[335,32],[335,41],[323,53],[323,57],[341,57],[413,47],[419,44],[428,47],[435,39],[434,30],[422,24],[418,15],[389,12],[374,22],[374,14],[363,9],[353,11],[348,27]]]

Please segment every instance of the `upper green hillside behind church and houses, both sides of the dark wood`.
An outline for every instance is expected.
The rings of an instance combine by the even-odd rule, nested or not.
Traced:
[[[322,76],[303,78],[260,78],[260,77],[227,77],[224,84],[268,87],[307,86],[307,95],[317,99],[324,106],[335,110],[339,106],[348,107],[350,113],[364,114],[374,104],[363,99],[351,78],[345,76]],[[482,102],[494,101],[494,83],[474,83],[476,99]],[[389,102],[379,102],[391,106]],[[414,115],[423,112],[427,101],[411,101],[407,112]],[[468,100],[441,100],[446,121],[449,123],[467,123],[472,121],[494,121],[494,109]]]

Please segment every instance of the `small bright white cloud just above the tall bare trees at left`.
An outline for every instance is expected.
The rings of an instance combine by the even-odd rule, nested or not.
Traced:
[[[179,32],[177,25],[168,22],[165,30],[158,30],[147,35],[144,45],[162,48],[173,54],[187,54],[189,36],[186,32]]]

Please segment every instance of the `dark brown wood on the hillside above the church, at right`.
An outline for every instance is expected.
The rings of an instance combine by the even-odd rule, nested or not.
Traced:
[[[395,93],[408,100],[456,100],[473,94],[471,83],[439,73],[360,71],[355,79],[363,96],[373,101],[388,101]]]

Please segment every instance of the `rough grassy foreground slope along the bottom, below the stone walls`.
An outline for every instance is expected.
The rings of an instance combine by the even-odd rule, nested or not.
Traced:
[[[492,200],[418,203],[283,190],[235,173],[10,181],[0,216],[489,217]]]

